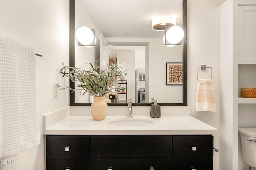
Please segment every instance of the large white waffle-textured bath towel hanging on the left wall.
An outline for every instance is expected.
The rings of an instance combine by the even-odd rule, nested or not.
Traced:
[[[40,130],[35,51],[0,36],[0,158],[37,144]]]

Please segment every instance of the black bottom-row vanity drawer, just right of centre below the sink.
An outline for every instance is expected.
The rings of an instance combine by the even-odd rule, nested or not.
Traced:
[[[132,170],[171,170],[172,158],[132,158]]]

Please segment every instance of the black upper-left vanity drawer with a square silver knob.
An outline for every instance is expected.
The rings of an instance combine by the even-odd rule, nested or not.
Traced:
[[[89,136],[46,136],[47,158],[88,158]]]

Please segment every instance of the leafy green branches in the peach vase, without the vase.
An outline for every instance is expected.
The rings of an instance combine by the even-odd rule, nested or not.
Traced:
[[[63,64],[64,67],[60,70],[62,77],[69,77],[73,82],[79,81],[77,85],[79,89],[71,89],[70,87],[62,87],[62,89],[71,89],[73,92],[79,90],[80,94],[81,91],[84,91],[82,95],[88,92],[90,95],[104,96],[104,94],[107,94],[112,89],[114,80],[127,74],[126,70],[122,71],[118,63],[106,64],[100,67],[99,60],[96,60],[94,64],[86,64],[90,64],[90,70],[65,66]],[[66,72],[67,70],[69,72]]]

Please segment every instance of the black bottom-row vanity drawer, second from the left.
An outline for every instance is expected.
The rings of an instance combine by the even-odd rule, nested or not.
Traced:
[[[130,158],[90,158],[90,170],[131,170]]]

